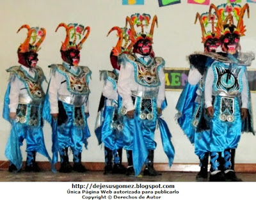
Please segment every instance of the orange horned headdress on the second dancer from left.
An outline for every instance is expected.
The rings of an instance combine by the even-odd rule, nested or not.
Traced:
[[[82,49],[82,45],[85,42],[85,40],[88,38],[88,35],[90,34],[90,27],[86,26],[84,28],[83,25],[79,24],[65,24],[65,23],[60,23],[59,26],[56,28],[56,31],[58,31],[59,27],[65,27],[67,35],[65,38],[65,41],[62,42],[61,45],[61,50],[66,51],[68,49],[78,49],[81,50]],[[82,36],[84,35],[86,31],[86,35],[82,38]],[[79,38],[79,40],[81,40],[78,44],[76,44],[76,40],[77,38]]]

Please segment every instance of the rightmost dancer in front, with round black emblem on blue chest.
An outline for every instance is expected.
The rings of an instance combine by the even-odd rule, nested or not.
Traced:
[[[210,14],[212,8],[218,17],[217,30],[225,54],[223,59],[214,60],[205,78],[205,108],[211,118],[210,181],[241,181],[234,171],[237,144],[242,132],[254,134],[246,71],[254,54],[239,52],[239,40],[246,31],[243,15],[247,10],[249,17],[249,6],[221,4],[217,8],[211,4]]]

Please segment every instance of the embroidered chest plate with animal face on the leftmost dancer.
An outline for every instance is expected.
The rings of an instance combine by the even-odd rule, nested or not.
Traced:
[[[24,83],[28,91],[28,95],[35,102],[42,102],[45,97],[45,93],[42,89],[42,82],[45,79],[43,70],[36,66],[35,77],[31,77],[26,70],[23,70],[20,66],[13,66],[9,68],[7,72],[14,73],[20,81]]]

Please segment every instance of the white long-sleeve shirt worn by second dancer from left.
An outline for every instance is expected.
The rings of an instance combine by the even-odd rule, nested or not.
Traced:
[[[68,65],[65,63],[65,65]],[[70,66],[70,65],[68,65]],[[70,66],[70,70],[77,72],[76,66]],[[58,95],[71,96],[71,93],[67,89],[67,82],[64,75],[56,70],[51,76],[51,82],[49,84],[49,101],[51,107],[51,114],[59,113],[58,107]],[[84,102],[84,112],[89,112],[88,100]]]

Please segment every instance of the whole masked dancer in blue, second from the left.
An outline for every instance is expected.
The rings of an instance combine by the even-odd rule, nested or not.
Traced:
[[[49,99],[45,102],[44,110],[45,119],[52,125],[52,162],[58,162],[59,152],[61,173],[70,173],[72,170],[83,173],[87,171],[81,163],[81,153],[83,144],[87,148],[87,139],[90,137],[87,124],[90,93],[88,84],[92,72],[87,66],[78,64],[80,50],[90,33],[90,27],[61,23],[56,31],[59,27],[64,27],[67,33],[60,50],[63,63],[51,65]],[[77,39],[81,41],[76,44]],[[73,166],[68,160],[68,148],[71,148],[73,153]]]

